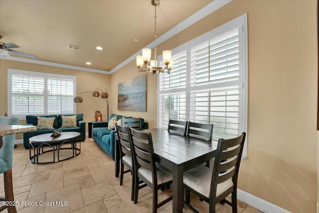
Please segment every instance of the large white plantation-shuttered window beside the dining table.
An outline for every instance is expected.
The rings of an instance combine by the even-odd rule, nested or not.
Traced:
[[[172,57],[170,74],[158,75],[159,128],[169,119],[213,124],[215,142],[247,131],[246,14],[176,47]]]

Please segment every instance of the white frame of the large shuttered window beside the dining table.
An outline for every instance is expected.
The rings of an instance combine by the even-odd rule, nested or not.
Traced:
[[[181,44],[180,46],[172,49],[172,55],[179,53],[181,51],[186,50],[186,60],[190,61],[191,57],[191,47],[198,45],[200,43],[203,43],[211,38],[220,36],[224,34],[225,32],[228,32],[234,28],[238,27],[238,30],[241,30],[241,33],[239,33],[239,40],[240,40],[240,51],[239,51],[239,70],[242,70],[239,75],[239,89],[242,90],[241,94],[241,101],[243,102],[241,105],[239,105],[239,112],[241,113],[242,119],[239,118],[238,124],[240,128],[238,128],[238,134],[240,135],[241,132],[246,132],[248,130],[248,26],[247,26],[247,13],[243,14],[227,23],[224,23],[223,25],[214,28],[202,35],[197,36],[196,38]],[[162,55],[158,57],[158,61],[162,60]],[[188,66],[188,65],[187,65]],[[160,75],[160,74],[159,74]],[[189,94],[191,92],[190,88],[190,67],[186,67],[186,88],[179,88],[179,89],[172,89],[167,91],[160,91],[160,76],[158,75],[157,82],[158,82],[158,88],[157,88],[157,101],[160,103],[160,96],[161,95],[169,95],[169,94],[176,94],[181,93],[183,91],[186,92],[186,120],[189,121]],[[161,74],[162,75],[162,74]],[[242,82],[242,85],[239,85]],[[202,85],[203,89],[212,89],[211,84],[208,85]],[[240,88],[241,87],[241,88]],[[160,128],[159,125],[160,120],[160,108],[159,104],[157,105],[157,128]],[[213,141],[215,145],[217,145],[216,141]],[[247,143],[248,143],[248,137],[246,137],[246,143],[244,145],[242,158],[247,157]]]

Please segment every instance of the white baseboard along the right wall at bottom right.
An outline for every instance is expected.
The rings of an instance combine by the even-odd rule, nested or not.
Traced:
[[[259,211],[262,211],[263,213],[290,213],[281,207],[273,205],[239,189],[237,189],[237,198],[238,200],[254,207]]]

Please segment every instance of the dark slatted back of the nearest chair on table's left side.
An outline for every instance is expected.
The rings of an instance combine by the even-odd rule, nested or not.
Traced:
[[[152,183],[157,183],[157,172],[154,157],[152,134],[142,132],[129,127],[129,134],[132,142],[135,172],[139,168],[145,168],[152,172]]]

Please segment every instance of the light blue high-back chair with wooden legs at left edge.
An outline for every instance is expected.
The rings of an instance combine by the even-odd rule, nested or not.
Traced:
[[[0,116],[0,125],[17,125],[18,118]],[[4,197],[0,201],[14,201],[12,187],[12,156],[15,135],[3,136],[3,145],[0,149],[0,174],[3,173]],[[0,212],[7,209],[9,213],[16,213],[15,206],[2,206]]]

